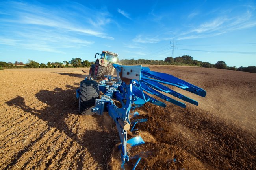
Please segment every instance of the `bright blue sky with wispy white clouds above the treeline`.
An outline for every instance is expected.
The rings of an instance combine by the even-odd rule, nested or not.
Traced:
[[[191,55],[228,66],[256,66],[254,1],[2,1],[0,60],[39,63]]]

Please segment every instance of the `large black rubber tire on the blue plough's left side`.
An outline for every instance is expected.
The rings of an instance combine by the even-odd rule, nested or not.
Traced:
[[[99,99],[99,86],[96,81],[83,80],[80,82],[79,113],[81,115],[93,115],[91,108],[95,107],[95,100]]]

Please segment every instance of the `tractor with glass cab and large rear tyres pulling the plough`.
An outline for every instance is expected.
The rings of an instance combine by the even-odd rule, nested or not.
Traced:
[[[97,80],[104,79],[104,75],[114,75],[116,71],[112,64],[118,64],[118,55],[109,51],[102,51],[101,54],[96,53],[94,58],[97,57],[97,54],[101,57],[96,59],[95,64],[91,65],[89,76]]]

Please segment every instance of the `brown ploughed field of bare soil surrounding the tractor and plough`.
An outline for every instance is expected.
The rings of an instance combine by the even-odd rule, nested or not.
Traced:
[[[120,169],[119,137],[108,116],[78,115],[76,89],[82,68],[0,71],[0,170]],[[256,167],[256,74],[239,71],[152,66],[204,88],[205,98],[180,108],[146,104],[148,122],[137,125],[144,145],[138,169],[226,170]],[[89,72],[89,68],[85,69]],[[130,169],[135,160],[130,160]]]

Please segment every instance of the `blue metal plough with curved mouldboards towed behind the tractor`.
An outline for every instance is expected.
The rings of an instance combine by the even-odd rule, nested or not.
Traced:
[[[109,116],[114,120],[121,142],[119,145],[122,162],[121,166],[124,168],[126,161],[129,161],[127,144],[134,147],[145,143],[140,136],[127,140],[127,131],[124,130],[123,124],[129,123],[133,125],[131,131],[134,131],[137,130],[134,129],[137,123],[147,121],[147,119],[137,119],[130,122],[130,117],[139,115],[138,112],[131,113],[130,115],[131,109],[134,110],[137,107],[143,106],[146,102],[166,107],[165,103],[152,96],[157,96],[183,108],[186,107],[186,104],[172,99],[163,93],[170,94],[183,101],[198,105],[197,101],[171,90],[167,87],[168,85],[181,88],[202,97],[205,97],[206,91],[172,75],[150,71],[150,69],[146,67],[121,66],[118,64],[113,64],[113,66],[117,71],[117,75],[120,75],[120,77],[105,76],[105,80],[98,82],[99,90],[104,93],[104,95],[101,95],[100,99],[96,99],[95,107],[91,109],[91,112],[95,112],[98,115],[103,115],[103,112],[108,112]],[[87,77],[85,80],[91,80],[91,78]],[[167,84],[167,86],[163,84]],[[76,91],[76,97],[79,98],[79,90]],[[122,104],[122,107],[117,107],[113,99],[119,101]],[[133,170],[140,160],[141,157],[137,160]]]

